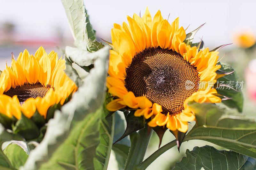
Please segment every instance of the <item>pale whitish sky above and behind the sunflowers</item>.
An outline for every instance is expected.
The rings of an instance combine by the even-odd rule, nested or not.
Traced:
[[[169,22],[180,17],[180,26],[192,31],[201,24],[195,37],[203,37],[206,46],[214,48],[221,44],[232,43],[232,35],[238,31],[251,30],[256,34],[254,0],[215,0],[215,1],[150,1],[150,0],[98,0],[84,1],[97,36],[110,41],[110,30],[113,23],[127,21],[126,15],[144,14],[148,6],[154,16],[158,9]],[[49,37],[56,33],[56,27],[71,35],[65,10],[60,0],[0,0],[0,23],[12,21],[16,31],[22,34]],[[232,47],[229,47],[232,48]]]

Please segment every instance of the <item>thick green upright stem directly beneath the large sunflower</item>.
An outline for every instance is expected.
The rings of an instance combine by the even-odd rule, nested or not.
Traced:
[[[152,131],[148,135],[148,128],[140,129],[130,135],[131,148],[125,163],[124,170],[132,170],[136,164],[143,161]]]

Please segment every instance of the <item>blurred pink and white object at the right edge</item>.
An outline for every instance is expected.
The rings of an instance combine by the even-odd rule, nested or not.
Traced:
[[[248,64],[245,70],[245,80],[249,98],[256,101],[256,59]]]

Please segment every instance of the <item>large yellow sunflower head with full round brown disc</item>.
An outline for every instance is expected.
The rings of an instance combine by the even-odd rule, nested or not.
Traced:
[[[213,88],[221,67],[218,52],[187,45],[179,18],[170,24],[160,11],[153,20],[148,8],[142,18],[134,14],[127,20],[129,25],[114,24],[111,30],[115,51],[110,50],[107,82],[115,100],[107,109],[135,109],[150,127],[186,132],[195,120],[189,101],[221,102]]]

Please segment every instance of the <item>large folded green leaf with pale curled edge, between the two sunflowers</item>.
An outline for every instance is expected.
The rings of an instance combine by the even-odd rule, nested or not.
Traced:
[[[103,107],[109,49],[102,48],[79,57],[66,54],[80,69],[84,64],[80,58],[86,60],[92,55],[95,56],[91,63],[93,68],[81,79],[82,83],[72,99],[60,111],[55,111],[54,118],[48,122],[44,139],[31,151],[21,169],[106,169],[107,155],[113,142],[113,130],[109,127],[109,120],[104,120],[108,113]],[[102,147],[102,144],[108,144],[108,147]]]

